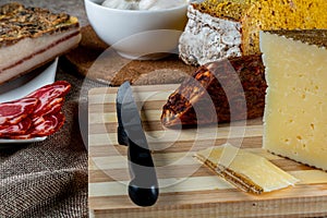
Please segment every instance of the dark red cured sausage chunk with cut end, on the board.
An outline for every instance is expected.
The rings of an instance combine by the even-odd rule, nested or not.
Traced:
[[[261,117],[267,87],[264,73],[259,55],[199,66],[193,77],[186,78],[169,96],[162,108],[161,122],[168,128],[229,122],[230,107],[233,121]],[[214,106],[213,110],[208,110],[208,104]]]

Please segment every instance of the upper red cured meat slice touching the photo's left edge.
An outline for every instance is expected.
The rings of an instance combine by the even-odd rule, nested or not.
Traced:
[[[37,104],[34,97],[0,104],[0,125],[17,124],[34,112]]]

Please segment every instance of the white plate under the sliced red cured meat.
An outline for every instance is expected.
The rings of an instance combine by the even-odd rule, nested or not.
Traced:
[[[10,83],[0,85],[0,102],[14,100],[26,96],[35,89],[55,82],[58,58],[43,69],[16,78]],[[14,88],[13,88],[14,87]],[[0,144],[21,144],[41,142],[47,137],[34,137],[28,140],[1,140]]]

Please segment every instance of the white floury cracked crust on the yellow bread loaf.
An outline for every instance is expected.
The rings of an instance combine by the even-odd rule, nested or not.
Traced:
[[[187,8],[189,22],[179,41],[181,59],[187,64],[203,65],[227,57],[241,56],[240,22],[201,13]]]

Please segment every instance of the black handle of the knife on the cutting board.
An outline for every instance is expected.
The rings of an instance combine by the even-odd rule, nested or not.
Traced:
[[[159,196],[158,180],[150,150],[129,140],[130,198],[138,206],[152,206]]]

